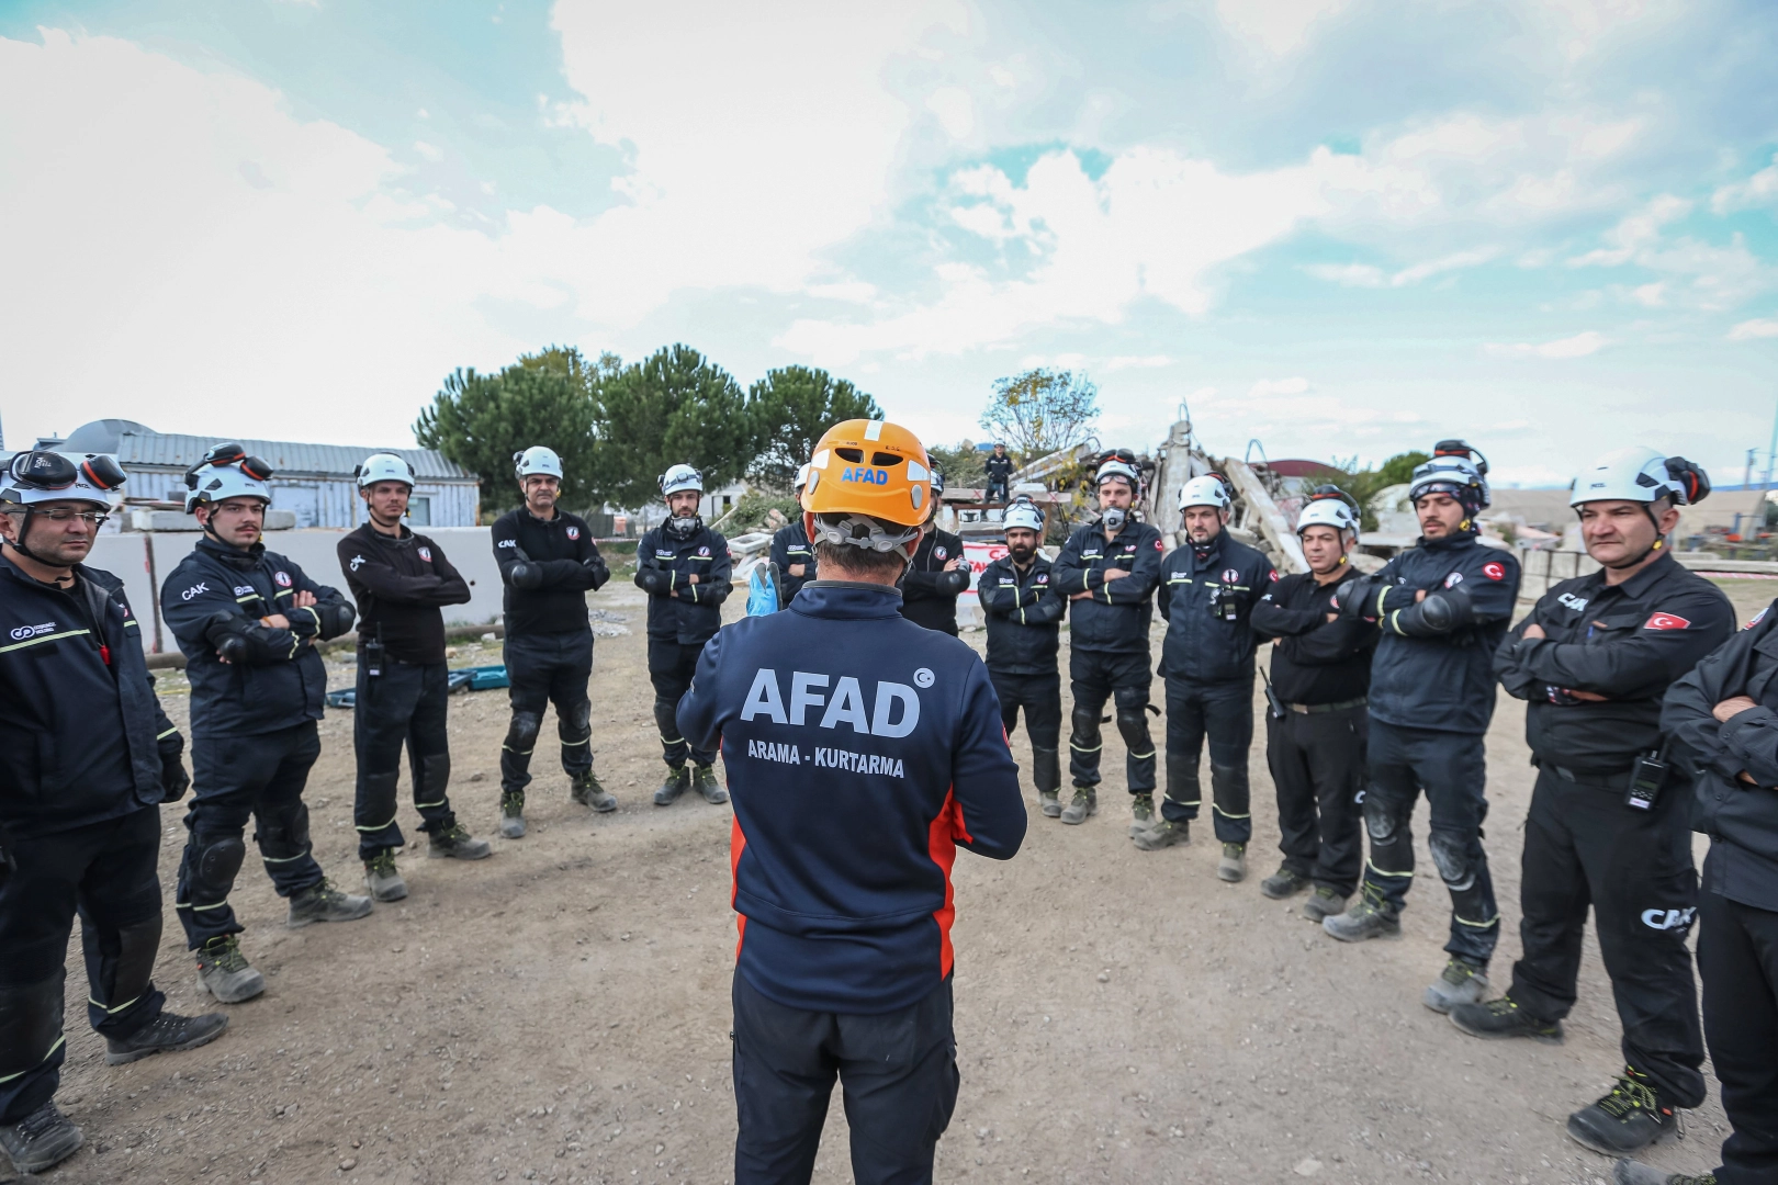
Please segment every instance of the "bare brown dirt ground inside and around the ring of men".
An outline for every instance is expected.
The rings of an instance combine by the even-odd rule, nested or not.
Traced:
[[[1725,586],[1742,620],[1773,592]],[[343,926],[286,931],[284,904],[249,858],[233,903],[268,988],[229,1009],[222,1039],[190,1054],[107,1068],[85,1025],[76,954],[59,1101],[87,1148],[46,1180],[731,1180],[731,812],[692,798],[651,805],[661,762],[642,597],[613,585],[592,604],[631,631],[597,641],[592,688],[597,769],[619,810],[589,817],[573,807],[541,744],[526,839],[494,839],[480,863],[432,862],[420,844],[402,862],[409,899]],[[498,647],[457,661],[498,661]],[[334,664],[332,686],[348,679]],[[165,691],[183,723],[180,682]],[[452,798],[484,835],[494,833],[505,727],[503,693],[452,702]],[[350,712],[329,712],[322,734],[308,794],[315,853],[336,881],[359,887]],[[1022,730],[1013,748],[1028,769]],[[1216,879],[1207,824],[1189,847],[1133,849],[1113,728],[1097,817],[1079,828],[1044,819],[1028,787],[1019,856],[958,858],[964,1086],[939,1180],[1607,1180],[1609,1162],[1563,1133],[1568,1112],[1620,1068],[1591,938],[1565,1046],[1460,1034],[1421,1006],[1444,965],[1437,878],[1414,890],[1403,942],[1360,947],[1326,938],[1298,901],[1259,894],[1277,824],[1255,750],[1253,874],[1243,885]],[[1488,762],[1486,846],[1506,919],[1494,966],[1504,988],[1518,954],[1531,791],[1522,705],[1504,696]],[[169,894],[180,815],[169,807],[162,817]],[[412,826],[411,807],[402,823]],[[1424,812],[1417,823],[1430,869]],[[178,1011],[212,1007],[194,990],[171,904],[156,981]],[[1648,1160],[1714,1165],[1725,1130],[1712,1082],[1689,1139]],[[816,1180],[850,1180],[837,1100]]]

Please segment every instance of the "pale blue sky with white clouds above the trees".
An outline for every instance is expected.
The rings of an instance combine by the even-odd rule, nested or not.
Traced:
[[[1774,60],[1766,0],[7,0],[0,410],[402,444],[686,341],[944,441],[1047,362],[1138,448],[1739,481]]]

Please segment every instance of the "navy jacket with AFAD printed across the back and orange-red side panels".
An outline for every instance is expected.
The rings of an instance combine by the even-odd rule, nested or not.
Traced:
[[[965,643],[878,585],[814,581],[727,625],[679,700],[722,744],[738,970],[786,1007],[891,1013],[951,974],[957,847],[1024,840],[999,700]]]

